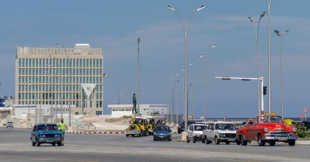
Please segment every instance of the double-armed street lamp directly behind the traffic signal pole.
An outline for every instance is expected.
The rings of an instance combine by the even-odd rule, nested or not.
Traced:
[[[253,22],[254,25],[254,32],[255,32],[255,38],[256,38],[256,77],[260,78],[260,61],[259,61],[259,52],[258,52],[258,32],[260,30],[260,20],[263,16],[265,16],[266,12],[262,12],[260,14],[260,18],[258,19],[258,30],[256,30],[256,25],[254,20],[249,16],[249,21]],[[258,115],[260,115],[260,81],[257,80],[257,101],[258,101]]]

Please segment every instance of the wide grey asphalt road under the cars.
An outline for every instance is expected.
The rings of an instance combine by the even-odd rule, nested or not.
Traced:
[[[31,146],[30,130],[0,128],[0,161],[310,161],[309,146],[153,141],[152,136],[66,134],[65,146]]]

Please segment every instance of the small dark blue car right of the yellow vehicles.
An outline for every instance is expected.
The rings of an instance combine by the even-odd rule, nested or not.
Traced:
[[[169,126],[156,126],[154,129],[154,141],[158,140],[172,140],[172,130]]]

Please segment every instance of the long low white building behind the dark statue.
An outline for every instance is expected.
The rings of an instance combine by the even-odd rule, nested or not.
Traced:
[[[110,104],[112,117],[132,116],[132,104]],[[138,108],[138,105],[137,105]],[[167,115],[169,105],[167,104],[140,104],[141,115]],[[138,111],[138,110],[137,110]]]

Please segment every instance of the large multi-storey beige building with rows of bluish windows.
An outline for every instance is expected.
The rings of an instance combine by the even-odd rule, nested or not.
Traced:
[[[17,47],[15,64],[15,104],[50,105],[50,113],[69,107],[74,115],[103,114],[101,48]]]

